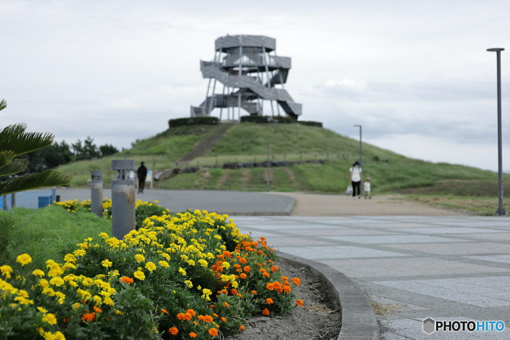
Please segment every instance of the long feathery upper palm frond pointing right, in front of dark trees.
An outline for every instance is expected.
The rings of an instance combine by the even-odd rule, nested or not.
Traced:
[[[14,154],[20,155],[50,146],[54,139],[53,134],[40,132],[12,135],[0,141],[0,151],[12,151]]]

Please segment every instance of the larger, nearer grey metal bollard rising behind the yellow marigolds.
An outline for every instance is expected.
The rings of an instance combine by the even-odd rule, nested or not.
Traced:
[[[129,171],[135,170],[134,160],[112,160],[117,178],[112,180],[112,234],[121,240],[135,229],[135,180]]]

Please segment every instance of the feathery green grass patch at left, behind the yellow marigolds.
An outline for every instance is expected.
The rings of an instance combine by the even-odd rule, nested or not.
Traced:
[[[111,231],[107,219],[86,211],[71,214],[55,205],[0,211],[0,262],[12,263],[17,255],[29,253],[38,268],[45,268],[46,259],[62,263],[63,256],[84,239]]]

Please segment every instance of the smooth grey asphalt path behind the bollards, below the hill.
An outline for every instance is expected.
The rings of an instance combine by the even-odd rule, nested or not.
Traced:
[[[59,189],[60,200],[90,199],[90,189]],[[112,198],[111,189],[103,197]],[[156,190],[136,194],[143,201],[158,200],[171,213],[199,209],[227,215],[290,215],[295,199],[288,196],[219,190]]]

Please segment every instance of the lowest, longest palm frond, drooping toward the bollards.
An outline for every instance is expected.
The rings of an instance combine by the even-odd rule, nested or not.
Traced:
[[[0,183],[0,195],[19,191],[68,185],[72,175],[57,170],[46,170],[36,174],[23,175]]]

